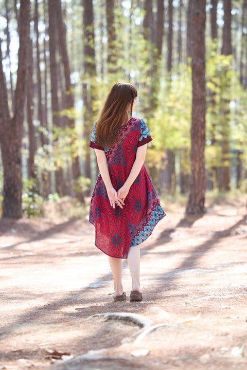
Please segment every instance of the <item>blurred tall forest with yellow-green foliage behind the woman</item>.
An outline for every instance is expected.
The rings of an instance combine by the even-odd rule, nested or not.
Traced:
[[[206,15],[205,102],[196,103],[205,109],[198,118],[192,70],[202,45],[195,44],[195,3]],[[246,191],[247,0],[0,0],[0,9],[4,217],[35,213],[52,197],[90,196],[97,176],[91,130],[117,81],[138,90],[135,115],[153,137],[146,164],[160,195],[196,190],[203,203],[205,190]],[[19,40],[26,48],[21,59]],[[198,141],[191,129],[203,116],[205,140]],[[191,161],[202,170],[193,173]],[[195,185],[200,171],[205,180]],[[203,204],[187,207],[203,210]]]

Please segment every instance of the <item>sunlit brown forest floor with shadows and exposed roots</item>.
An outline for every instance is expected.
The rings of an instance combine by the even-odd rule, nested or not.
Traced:
[[[207,206],[164,206],[137,303],[113,301],[86,219],[1,219],[0,369],[246,370],[246,199]],[[129,297],[126,261],[123,282]]]

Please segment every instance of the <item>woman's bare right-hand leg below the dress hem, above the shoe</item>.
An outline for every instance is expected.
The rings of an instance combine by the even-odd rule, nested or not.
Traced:
[[[140,292],[140,247],[130,247],[128,257],[128,266],[132,277],[132,291]]]

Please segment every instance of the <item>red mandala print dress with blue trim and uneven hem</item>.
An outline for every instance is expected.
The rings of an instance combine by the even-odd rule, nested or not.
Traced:
[[[142,119],[131,118],[119,130],[119,141],[109,149],[94,142],[95,125],[90,146],[104,150],[112,185],[116,191],[128,178],[135,161],[136,150],[152,140]],[[105,254],[127,258],[131,246],[143,243],[154,226],[165,216],[144,165],[133,182],[121,209],[112,208],[99,174],[90,205],[90,222],[95,226],[95,245]]]

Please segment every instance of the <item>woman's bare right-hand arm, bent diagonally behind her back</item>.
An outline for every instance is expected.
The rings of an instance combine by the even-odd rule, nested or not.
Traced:
[[[140,169],[143,167],[143,163],[146,157],[147,146],[148,144],[144,144],[142,146],[137,147],[136,158],[133,163],[130,174],[125,183],[123,184],[123,186],[117,192],[118,199],[124,201],[125,198],[127,197],[132,183],[135,181],[136,177],[140,172]]]

